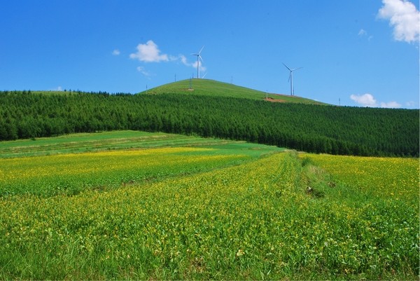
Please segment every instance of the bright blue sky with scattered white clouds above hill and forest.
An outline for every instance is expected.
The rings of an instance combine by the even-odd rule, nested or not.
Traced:
[[[197,76],[348,106],[419,108],[407,0],[0,0],[0,90],[141,92]]]

